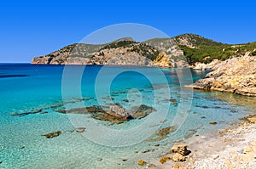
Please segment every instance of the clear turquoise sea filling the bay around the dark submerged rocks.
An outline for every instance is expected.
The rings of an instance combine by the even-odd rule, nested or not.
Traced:
[[[217,132],[255,110],[256,99],[183,85],[206,71],[101,65],[0,64],[0,168],[143,168],[177,141]],[[114,124],[60,110],[145,104],[155,111]],[[211,125],[209,122],[217,122]],[[157,131],[177,127],[165,138]],[[84,132],[76,128],[84,127]],[[61,131],[55,138],[49,132]]]

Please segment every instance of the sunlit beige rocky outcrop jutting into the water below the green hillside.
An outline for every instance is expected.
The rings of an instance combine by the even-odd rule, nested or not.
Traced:
[[[213,66],[205,79],[187,87],[256,96],[256,56],[227,59]]]

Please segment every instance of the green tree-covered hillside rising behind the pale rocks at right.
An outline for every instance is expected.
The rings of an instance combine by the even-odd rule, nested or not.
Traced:
[[[193,34],[185,34],[175,38],[177,38],[177,45],[183,50],[189,65],[194,65],[195,62],[209,63],[213,59],[225,60],[241,57],[247,52],[256,55],[256,42],[230,45]]]

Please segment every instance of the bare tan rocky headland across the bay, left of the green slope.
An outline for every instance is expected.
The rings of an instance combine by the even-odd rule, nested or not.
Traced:
[[[185,34],[179,37],[151,39],[146,42],[122,38],[102,45],[79,43],[36,57],[32,59],[32,64],[188,67],[189,64],[179,45],[192,47],[200,38],[203,37],[191,37]]]

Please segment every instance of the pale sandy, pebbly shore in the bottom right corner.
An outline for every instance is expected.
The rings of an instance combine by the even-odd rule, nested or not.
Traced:
[[[155,161],[148,168],[173,169],[253,169],[256,166],[256,117],[199,136],[186,144],[191,151],[186,161],[174,162],[172,154],[164,164]],[[162,157],[163,158],[163,157]]]

